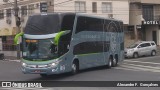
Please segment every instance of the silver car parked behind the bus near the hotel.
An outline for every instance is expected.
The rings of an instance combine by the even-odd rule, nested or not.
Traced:
[[[125,48],[125,57],[138,58],[140,56],[155,56],[157,45],[154,41],[138,41]]]

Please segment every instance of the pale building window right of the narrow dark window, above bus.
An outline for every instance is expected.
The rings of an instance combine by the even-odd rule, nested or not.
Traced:
[[[112,3],[102,2],[102,13],[112,13]]]

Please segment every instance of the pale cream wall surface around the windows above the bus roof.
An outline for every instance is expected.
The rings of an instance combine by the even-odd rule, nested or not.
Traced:
[[[75,1],[65,4],[58,4],[66,0],[55,1],[55,12],[75,12]],[[86,13],[108,18],[108,14],[113,14],[114,19],[122,20],[124,24],[129,24],[129,2],[128,0],[80,0],[86,2]],[[97,2],[97,13],[92,13],[92,2]],[[111,2],[113,7],[112,13],[102,13],[102,2]],[[64,8],[62,8],[64,7]]]

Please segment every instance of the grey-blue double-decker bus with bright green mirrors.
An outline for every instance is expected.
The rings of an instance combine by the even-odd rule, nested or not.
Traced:
[[[30,16],[22,37],[25,74],[71,72],[103,66],[115,67],[124,59],[123,22],[76,13]]]

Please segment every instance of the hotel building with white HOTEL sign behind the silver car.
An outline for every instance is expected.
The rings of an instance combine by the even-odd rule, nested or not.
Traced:
[[[130,0],[128,40],[160,45],[160,0]]]

